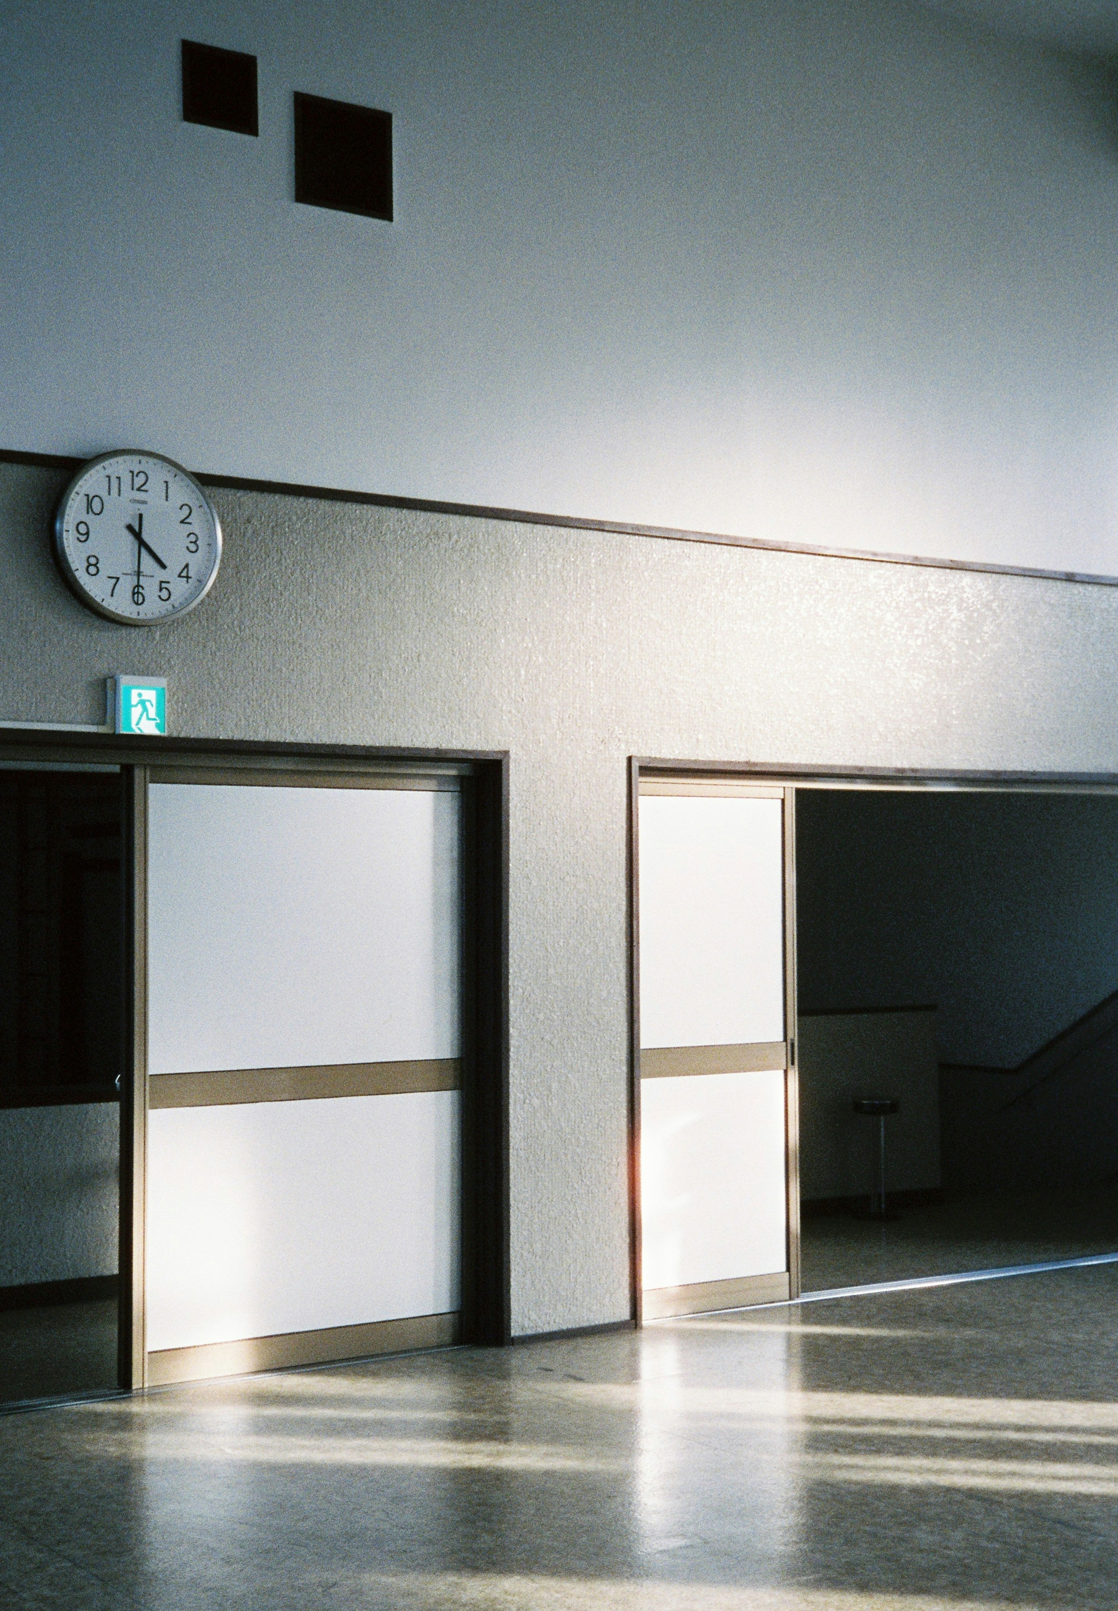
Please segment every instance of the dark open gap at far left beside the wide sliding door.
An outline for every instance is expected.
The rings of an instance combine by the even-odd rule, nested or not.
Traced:
[[[0,1403],[118,1384],[121,775],[0,770]]]

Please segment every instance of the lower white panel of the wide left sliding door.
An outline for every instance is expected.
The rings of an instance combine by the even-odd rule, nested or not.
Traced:
[[[458,1310],[458,1091],[151,1113],[148,1348]]]

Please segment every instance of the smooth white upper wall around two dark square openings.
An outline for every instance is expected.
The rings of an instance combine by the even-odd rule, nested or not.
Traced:
[[[179,40],[261,137],[180,121]],[[5,8],[0,446],[1118,575],[1118,143],[905,3]],[[296,206],[292,90],[396,222]]]

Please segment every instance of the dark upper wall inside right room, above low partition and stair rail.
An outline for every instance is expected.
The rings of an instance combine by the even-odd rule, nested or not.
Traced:
[[[936,1005],[947,1063],[1012,1068],[1118,989],[1118,799],[805,789],[799,1007]]]

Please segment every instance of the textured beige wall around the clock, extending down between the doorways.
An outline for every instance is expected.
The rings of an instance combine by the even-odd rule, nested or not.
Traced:
[[[2,719],[150,672],[177,733],[511,751],[517,1332],[628,1308],[627,756],[1118,770],[1115,588],[222,491],[140,632],[58,580],[61,482],[0,466]]]

